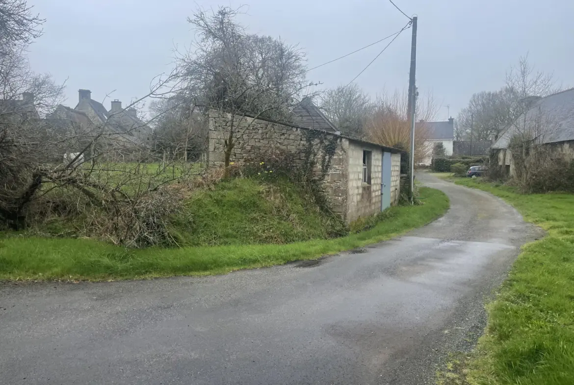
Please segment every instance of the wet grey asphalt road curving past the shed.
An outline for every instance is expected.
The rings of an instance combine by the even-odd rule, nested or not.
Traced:
[[[537,231],[478,190],[434,223],[315,264],[0,286],[2,384],[432,383]]]

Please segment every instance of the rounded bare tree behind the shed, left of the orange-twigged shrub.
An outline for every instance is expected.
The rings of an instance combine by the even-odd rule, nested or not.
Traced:
[[[320,107],[343,134],[362,137],[364,123],[374,111],[374,103],[355,83],[327,90]]]

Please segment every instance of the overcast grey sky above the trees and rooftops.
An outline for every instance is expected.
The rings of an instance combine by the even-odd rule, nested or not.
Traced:
[[[250,32],[299,43],[314,67],[397,32],[408,21],[387,0],[29,0],[46,18],[44,36],[30,48],[37,72],[67,81],[65,104],[88,88],[100,102],[107,92],[122,100],[147,94],[149,82],[168,71],[174,44],[193,37],[186,17],[196,5],[249,5],[242,24]],[[443,107],[438,119],[463,108],[474,92],[497,90],[506,69],[529,52],[532,63],[572,85],[572,0],[395,0],[417,14],[417,85]],[[372,46],[308,73],[325,87],[347,84],[385,46]],[[376,95],[408,84],[410,29],[357,80]],[[104,106],[110,108],[110,100]]]

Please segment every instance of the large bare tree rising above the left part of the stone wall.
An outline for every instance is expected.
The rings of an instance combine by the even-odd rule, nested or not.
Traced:
[[[235,18],[241,9],[198,9],[188,19],[198,38],[177,59],[184,92],[200,106],[228,115],[224,163],[230,164],[245,115],[288,121],[313,84],[305,80],[305,54],[296,45],[248,34]]]

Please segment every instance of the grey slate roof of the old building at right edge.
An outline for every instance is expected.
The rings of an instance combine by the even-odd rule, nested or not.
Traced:
[[[526,126],[525,126],[526,124]],[[534,128],[537,124],[542,129]],[[538,99],[525,114],[518,116],[512,125],[492,145],[493,149],[505,149],[518,130],[542,131],[541,143],[574,140],[574,88]]]

